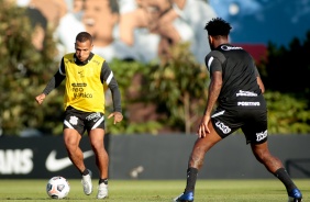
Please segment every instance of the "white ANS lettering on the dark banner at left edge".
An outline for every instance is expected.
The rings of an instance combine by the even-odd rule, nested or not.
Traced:
[[[30,173],[33,169],[33,152],[25,149],[0,150],[0,173]]]

